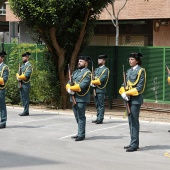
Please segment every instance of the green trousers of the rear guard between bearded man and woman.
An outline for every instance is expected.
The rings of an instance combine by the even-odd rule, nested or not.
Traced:
[[[95,106],[97,110],[97,120],[99,121],[103,121],[104,119],[105,112],[104,99],[105,99],[104,93],[96,93],[96,96],[94,97]]]

